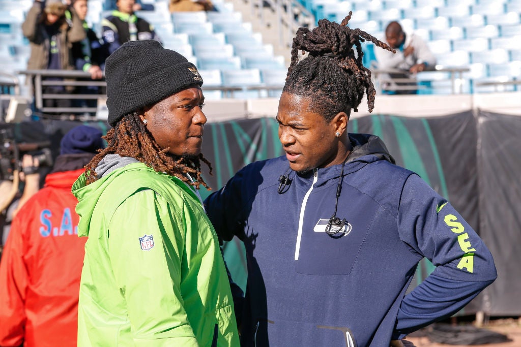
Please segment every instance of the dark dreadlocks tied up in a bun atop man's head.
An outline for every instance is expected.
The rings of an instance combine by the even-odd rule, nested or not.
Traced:
[[[311,110],[324,115],[327,122],[339,112],[347,113],[348,117],[351,109],[357,112],[364,92],[369,112],[375,107],[376,91],[371,71],[362,64],[361,43],[368,40],[395,53],[374,36],[347,27],[351,15],[350,11],[340,24],[320,19],[313,31],[300,28],[293,38],[291,65],[283,91],[311,97]],[[300,62],[299,50],[302,54],[309,53]]]

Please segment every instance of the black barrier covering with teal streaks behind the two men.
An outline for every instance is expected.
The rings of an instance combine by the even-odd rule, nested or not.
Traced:
[[[16,124],[13,130],[19,142],[51,139],[57,154],[59,139],[77,124],[29,122]],[[90,124],[107,130],[104,122]],[[377,114],[352,119],[349,131],[380,136],[399,165],[418,173],[450,200],[485,239],[499,278],[460,314],[483,310],[492,315],[520,315],[521,117],[474,115],[472,111],[432,118]],[[203,153],[212,162],[214,174],[209,176],[206,171],[206,182],[217,190],[244,165],[282,155],[277,133],[274,118],[207,124]],[[204,188],[200,192],[203,198],[210,193]],[[234,279],[244,288],[245,257],[240,241],[229,242],[225,255]],[[412,286],[432,269],[430,262],[422,261]]]

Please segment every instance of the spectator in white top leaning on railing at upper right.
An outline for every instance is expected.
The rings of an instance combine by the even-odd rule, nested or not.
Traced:
[[[375,50],[378,69],[380,70],[403,70],[404,73],[390,73],[390,78],[407,78],[409,73],[418,73],[424,70],[432,70],[436,65],[436,57],[429,47],[414,33],[405,33],[398,22],[390,22],[386,28],[386,41],[396,50],[393,54],[389,50]],[[415,85],[416,83],[412,83]],[[396,83],[396,85],[411,85],[411,83]],[[400,91],[398,91],[400,92]],[[405,91],[405,94],[410,94]],[[412,92],[415,92],[414,90]],[[400,93],[396,93],[400,94]]]

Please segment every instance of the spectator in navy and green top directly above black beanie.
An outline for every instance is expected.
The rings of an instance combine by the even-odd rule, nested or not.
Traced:
[[[103,41],[107,44],[109,55],[128,41],[160,41],[154,27],[134,14],[134,5],[135,0],[117,0],[118,9],[102,20]]]

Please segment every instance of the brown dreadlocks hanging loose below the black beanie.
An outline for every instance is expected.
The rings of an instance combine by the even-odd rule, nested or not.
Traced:
[[[157,172],[165,172],[170,176],[175,176],[184,183],[195,186],[199,189],[203,185],[211,190],[201,176],[201,161],[208,165],[210,175],[212,174],[212,164],[200,153],[197,157],[175,158],[167,151],[169,148],[161,149],[155,142],[152,135],[146,130],[145,125],[139,117],[139,112],[133,112],[123,116],[116,125],[111,128],[107,135],[103,136],[107,140],[108,146],[99,150],[97,155],[85,165],[86,183],[96,181],[96,166],[108,154],[116,153],[123,157],[132,157]],[[194,177],[194,182],[186,174]]]

